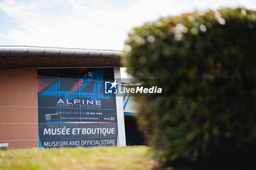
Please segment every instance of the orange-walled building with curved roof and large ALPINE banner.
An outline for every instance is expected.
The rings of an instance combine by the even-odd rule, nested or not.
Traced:
[[[10,149],[126,146],[129,98],[112,91],[115,80],[121,80],[120,55],[116,50],[1,46],[0,143],[9,143]]]

